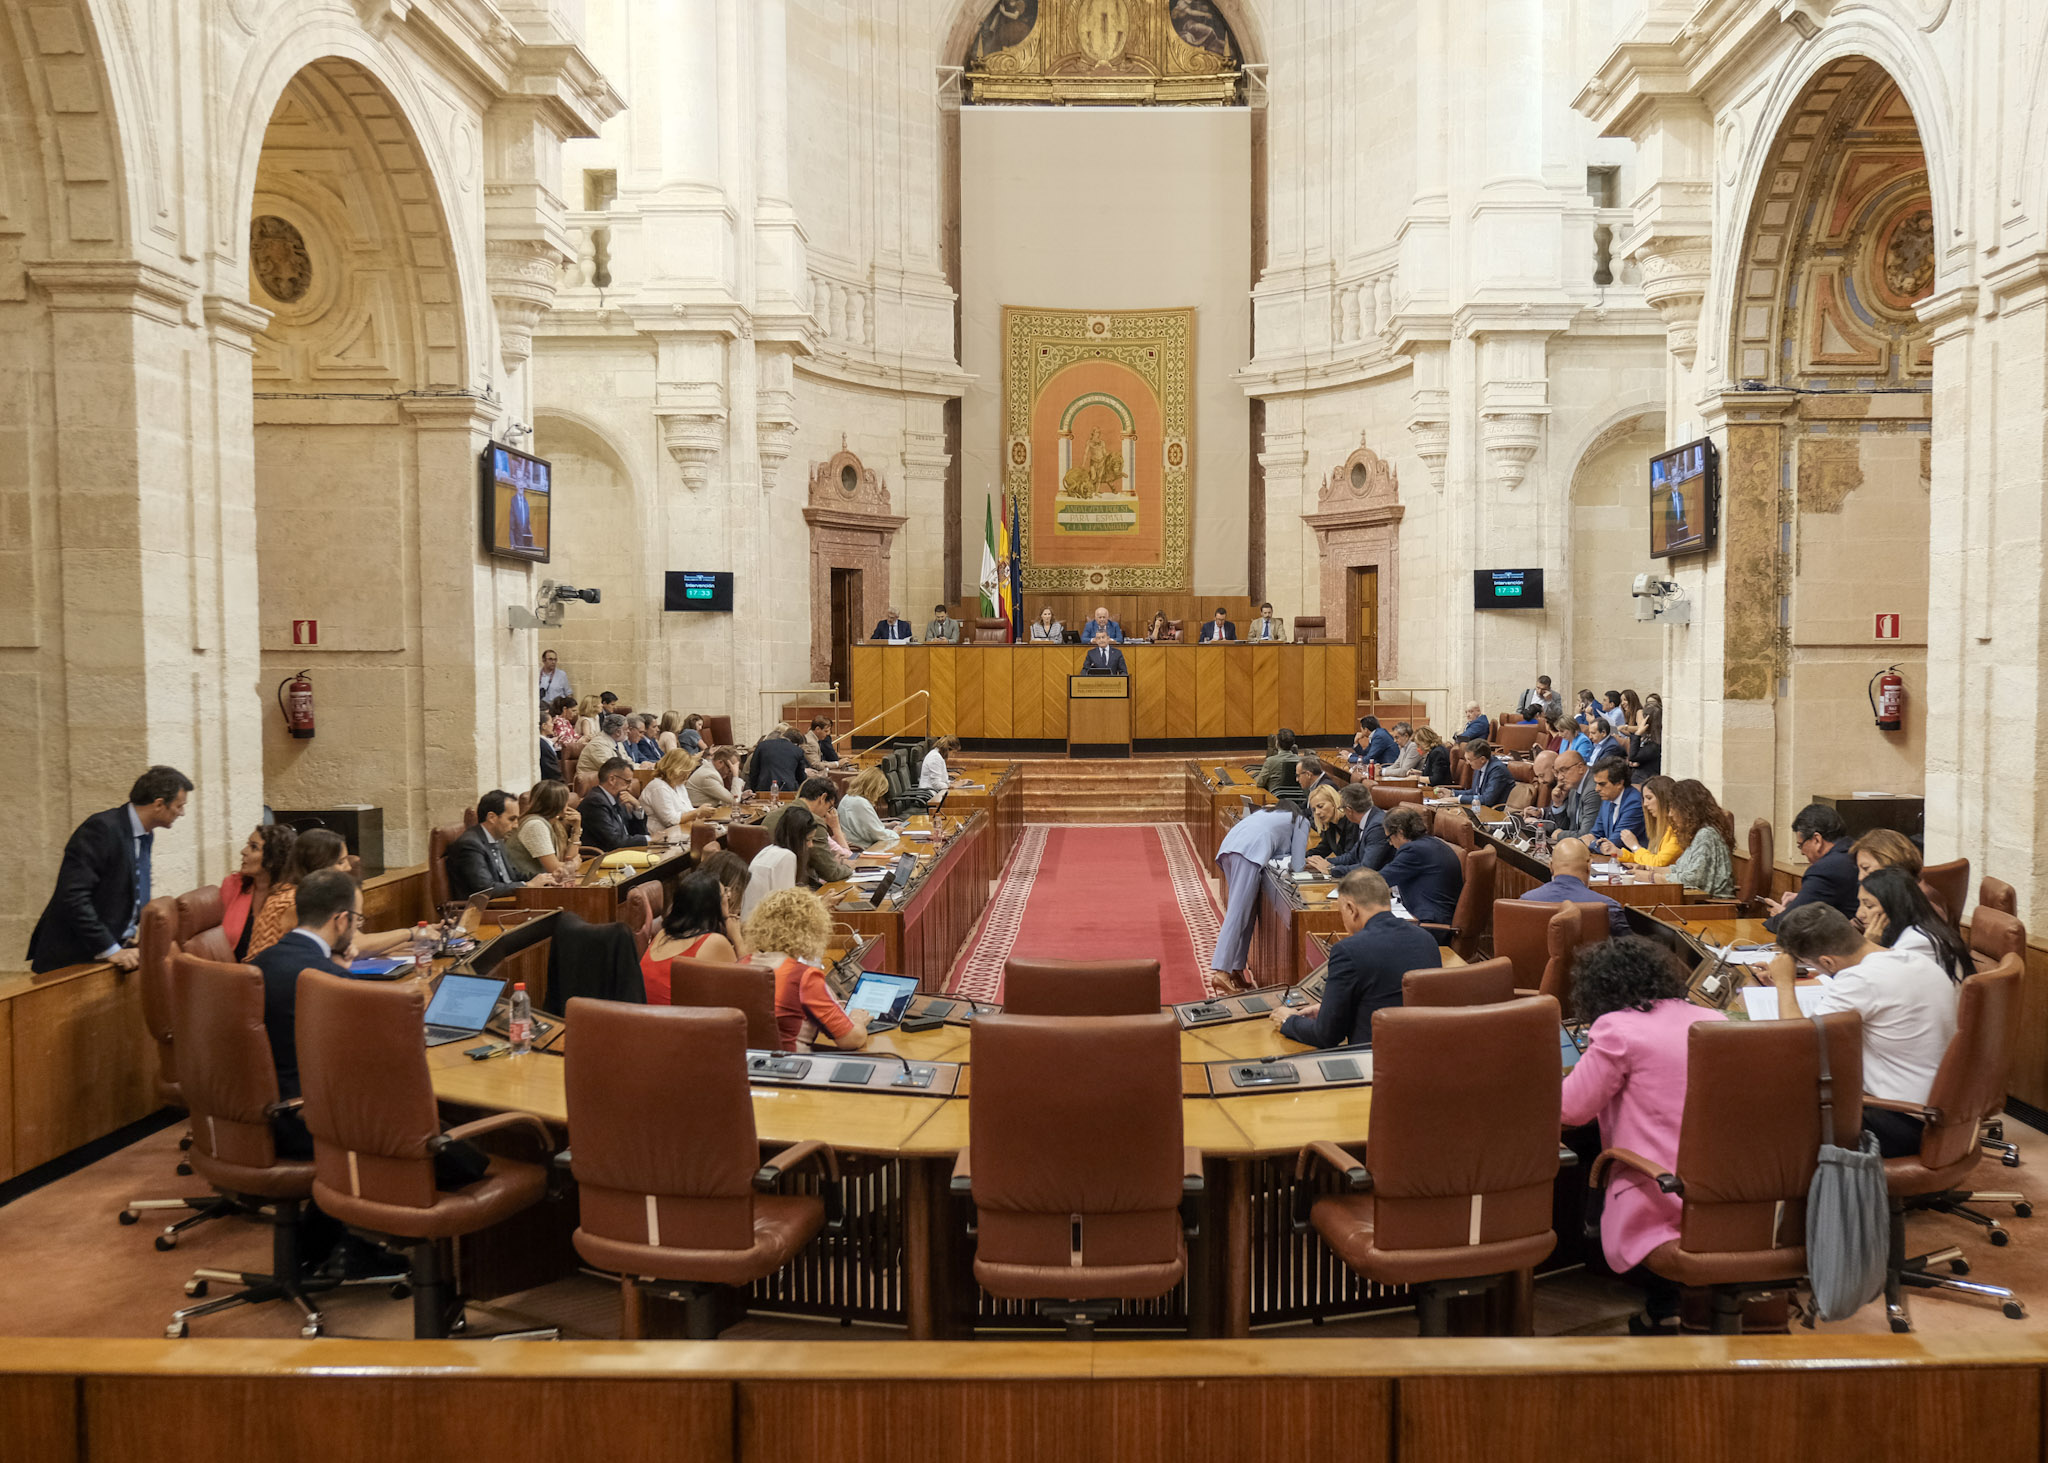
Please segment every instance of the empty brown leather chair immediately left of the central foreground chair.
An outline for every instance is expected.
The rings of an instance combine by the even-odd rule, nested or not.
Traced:
[[[639,1340],[657,1283],[690,1340],[713,1340],[721,1289],[774,1274],[825,1225],[825,1201],[774,1193],[780,1178],[815,1162],[831,1186],[838,1162],[797,1143],[762,1164],[737,1010],[578,998],[567,1018],[575,1252],[618,1277],[621,1338]]]

